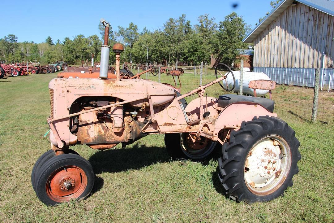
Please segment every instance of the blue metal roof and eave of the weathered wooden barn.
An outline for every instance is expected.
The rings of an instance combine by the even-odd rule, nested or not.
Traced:
[[[282,0],[243,40],[251,43],[269,24],[272,23],[294,0]],[[334,16],[334,1],[331,0],[298,0],[307,6]]]

